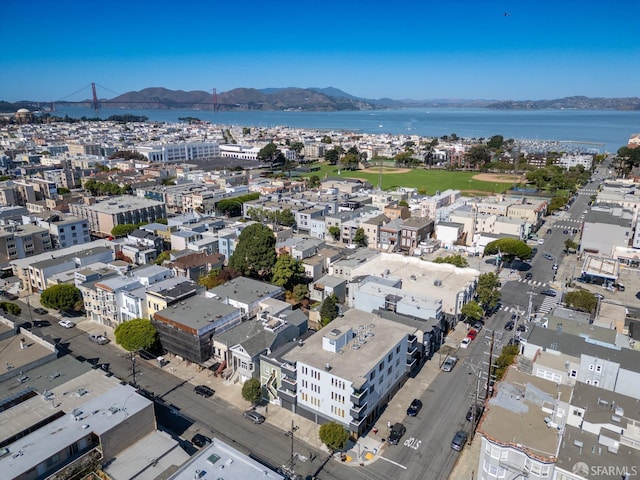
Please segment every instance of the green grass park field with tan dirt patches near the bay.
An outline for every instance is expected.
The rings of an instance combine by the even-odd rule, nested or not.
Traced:
[[[337,165],[327,163],[318,163],[313,166],[320,167],[320,170],[305,174],[305,176],[317,175],[321,180],[327,177],[359,178],[367,180],[374,187],[378,186],[380,178],[380,167],[378,166],[355,171],[344,170]],[[382,167],[383,190],[409,187],[424,189],[428,195],[433,195],[436,191],[454,189],[460,190],[464,195],[491,195],[507,190],[513,183],[513,175]]]

